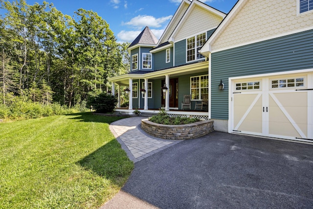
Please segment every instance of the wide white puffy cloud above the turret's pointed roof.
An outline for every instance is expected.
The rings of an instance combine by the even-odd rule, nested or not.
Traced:
[[[153,16],[148,15],[138,15],[137,17],[134,17],[130,22],[124,23],[126,25],[131,25],[135,27],[143,27],[143,26],[149,26],[149,27],[161,27],[162,23],[171,20],[173,16],[167,16],[167,17],[161,17],[161,18],[155,18]]]

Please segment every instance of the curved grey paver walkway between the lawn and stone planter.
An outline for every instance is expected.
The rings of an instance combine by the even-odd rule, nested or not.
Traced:
[[[110,125],[112,134],[134,163],[182,141],[159,139],[148,135],[141,129],[142,119],[146,117],[129,117]]]

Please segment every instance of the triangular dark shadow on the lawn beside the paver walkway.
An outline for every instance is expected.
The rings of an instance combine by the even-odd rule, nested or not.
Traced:
[[[134,163],[128,159],[116,139],[112,139],[77,163],[119,186],[125,183],[134,169]]]

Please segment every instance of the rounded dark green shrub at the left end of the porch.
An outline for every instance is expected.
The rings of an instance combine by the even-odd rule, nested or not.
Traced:
[[[96,113],[112,113],[116,103],[116,97],[107,93],[90,95],[88,98],[88,105],[95,109]]]

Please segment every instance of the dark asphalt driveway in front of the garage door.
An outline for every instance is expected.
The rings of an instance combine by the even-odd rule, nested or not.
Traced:
[[[122,190],[162,209],[313,208],[313,145],[213,132],[135,163]]]

